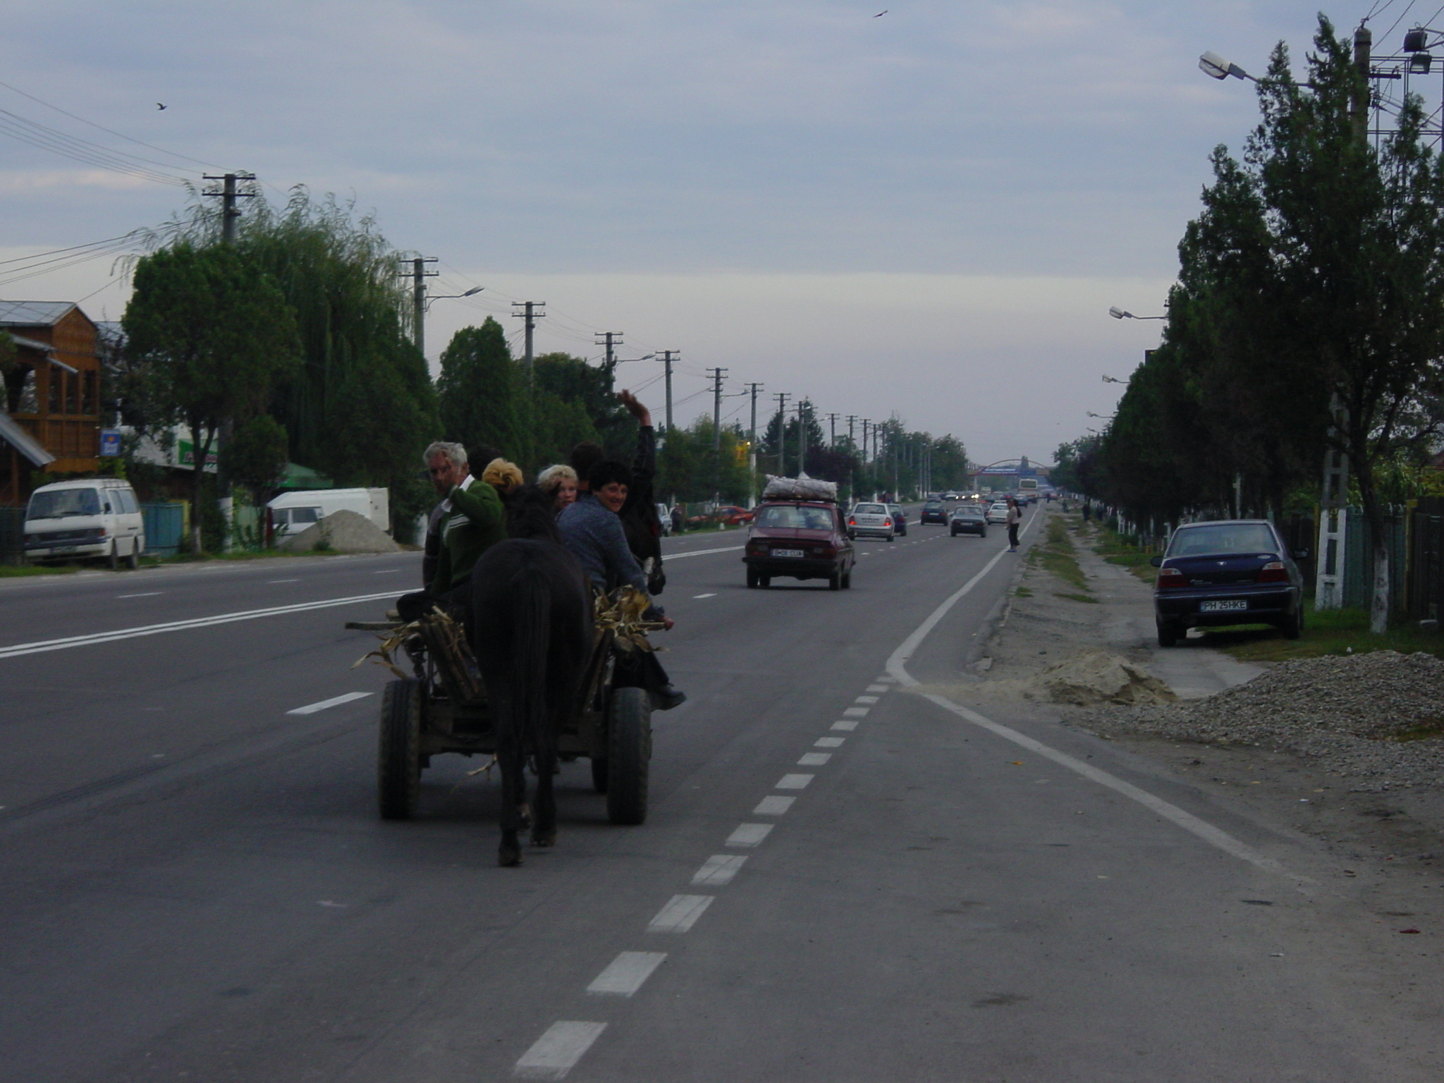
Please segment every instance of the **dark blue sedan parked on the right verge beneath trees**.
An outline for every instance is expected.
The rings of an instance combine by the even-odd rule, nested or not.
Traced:
[[[1152,559],[1158,645],[1188,628],[1272,624],[1289,640],[1304,631],[1304,576],[1274,524],[1262,518],[1187,523]]]

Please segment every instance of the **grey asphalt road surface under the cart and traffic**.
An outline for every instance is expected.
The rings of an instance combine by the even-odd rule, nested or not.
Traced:
[[[520,869],[461,757],[375,814],[341,625],[417,554],[0,583],[0,1080],[1438,1079],[1308,843],[908,687],[985,632],[1001,530],[859,542],[840,592],[748,591],[742,542],[667,542],[647,823],[578,761]]]

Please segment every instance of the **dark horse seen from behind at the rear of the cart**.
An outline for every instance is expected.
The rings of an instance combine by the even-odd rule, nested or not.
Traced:
[[[560,542],[552,497],[527,485],[507,501],[505,542],[472,570],[471,645],[487,686],[501,768],[503,865],[521,864],[527,755],[537,771],[531,845],[556,843],[557,734],[576,708],[592,644],[586,575]]]

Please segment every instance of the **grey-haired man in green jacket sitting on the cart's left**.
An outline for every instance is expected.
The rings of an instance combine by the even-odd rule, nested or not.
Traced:
[[[426,449],[426,472],[442,504],[440,552],[436,573],[425,591],[401,595],[396,609],[403,621],[416,621],[432,606],[471,614],[471,569],[477,559],[507,536],[501,495],[471,474],[466,449],[459,443],[433,443]]]

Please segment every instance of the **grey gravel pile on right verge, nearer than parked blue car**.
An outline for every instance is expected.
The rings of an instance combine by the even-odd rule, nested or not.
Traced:
[[[1365,790],[1444,783],[1444,661],[1432,654],[1282,661],[1207,699],[1090,710],[1080,722],[1102,734],[1287,751]]]

